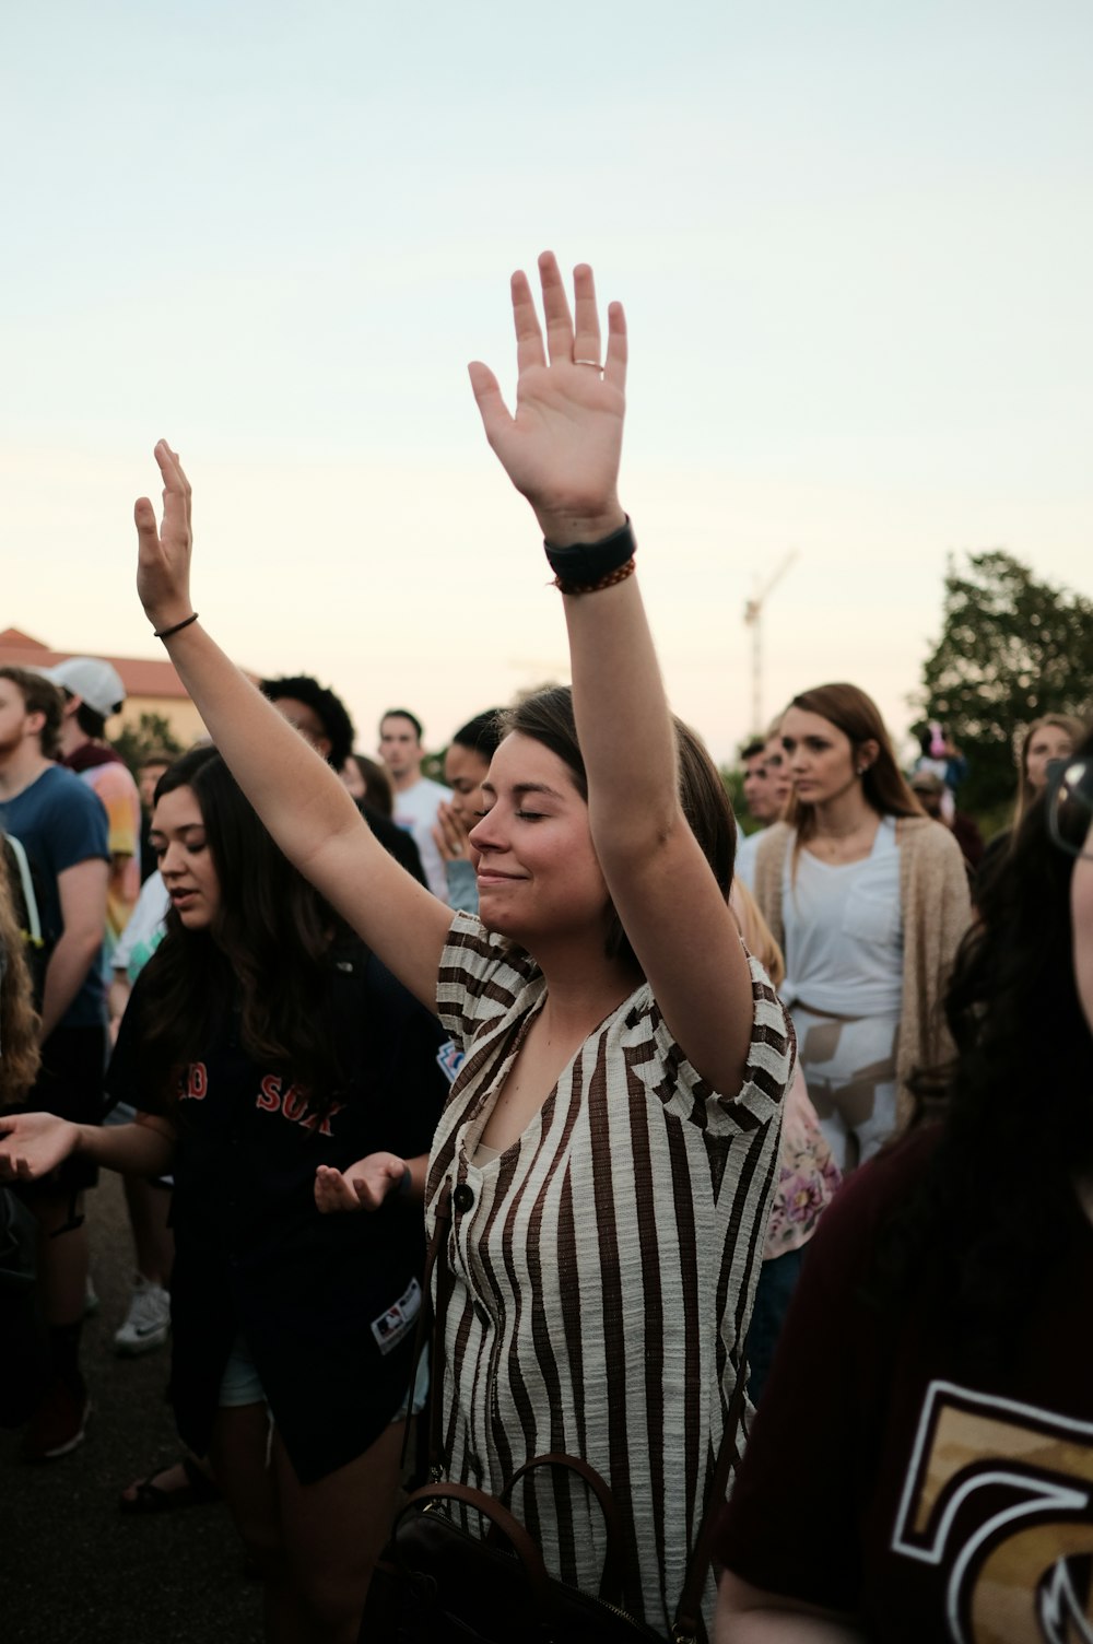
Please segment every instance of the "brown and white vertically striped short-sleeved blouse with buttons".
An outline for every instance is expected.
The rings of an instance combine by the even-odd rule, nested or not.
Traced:
[[[575,1054],[519,1141],[470,1161],[546,998],[534,960],[457,914],[437,1004],[465,1060],[426,1192],[452,1184],[444,1452],[496,1493],[547,1450],[603,1475],[625,1529],[625,1605],[669,1631],[702,1524],[777,1175],[792,1029],[753,960],[743,1088],[720,1097],[674,1042],[648,983]],[[513,1511],[547,1568],[595,1593],[598,1506],[542,1468]],[[713,1582],[707,1583],[707,1621]]]

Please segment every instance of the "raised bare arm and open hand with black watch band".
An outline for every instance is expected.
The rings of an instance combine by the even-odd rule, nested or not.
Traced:
[[[574,275],[575,322],[552,255],[539,258],[546,345],[524,275],[513,276],[519,380],[510,416],[493,373],[470,367],[487,437],[554,547],[625,523],[616,480],[626,326],[608,309],[603,376],[592,270]],[[597,857],[664,1018],[715,1090],[740,1088],[751,981],[735,921],[679,802],[676,737],[634,577],[564,597],[574,712]]]

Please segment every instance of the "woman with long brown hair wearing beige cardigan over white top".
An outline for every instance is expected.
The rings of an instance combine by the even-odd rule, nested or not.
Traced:
[[[786,954],[782,998],[809,1095],[846,1171],[904,1121],[914,1069],[940,1059],[939,1000],[968,881],[865,690],[804,690],[781,735],[794,794],[758,848],[754,891]]]

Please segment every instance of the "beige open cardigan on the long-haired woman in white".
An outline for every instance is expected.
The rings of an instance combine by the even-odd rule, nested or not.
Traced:
[[[782,952],[782,870],[794,830],[774,822],[756,850],[754,896]],[[907,1080],[915,1069],[935,1067],[953,1054],[942,1001],[957,947],[971,921],[968,875],[960,845],[943,822],[899,817],[899,903],[904,921],[904,988],[896,1041],[899,1121],[912,1111]],[[786,957],[789,965],[789,955]],[[848,1011],[848,1014],[853,1014]]]

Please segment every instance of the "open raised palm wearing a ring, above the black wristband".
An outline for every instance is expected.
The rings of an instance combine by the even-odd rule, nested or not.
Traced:
[[[546,344],[528,276],[513,275],[516,326],[516,414],[498,380],[475,360],[470,383],[487,439],[510,480],[536,511],[542,534],[557,547],[590,543],[616,531],[626,386],[626,319],[621,302],[608,307],[606,355],[600,350],[592,270],[574,270],[574,312],[552,252],[539,258]]]

